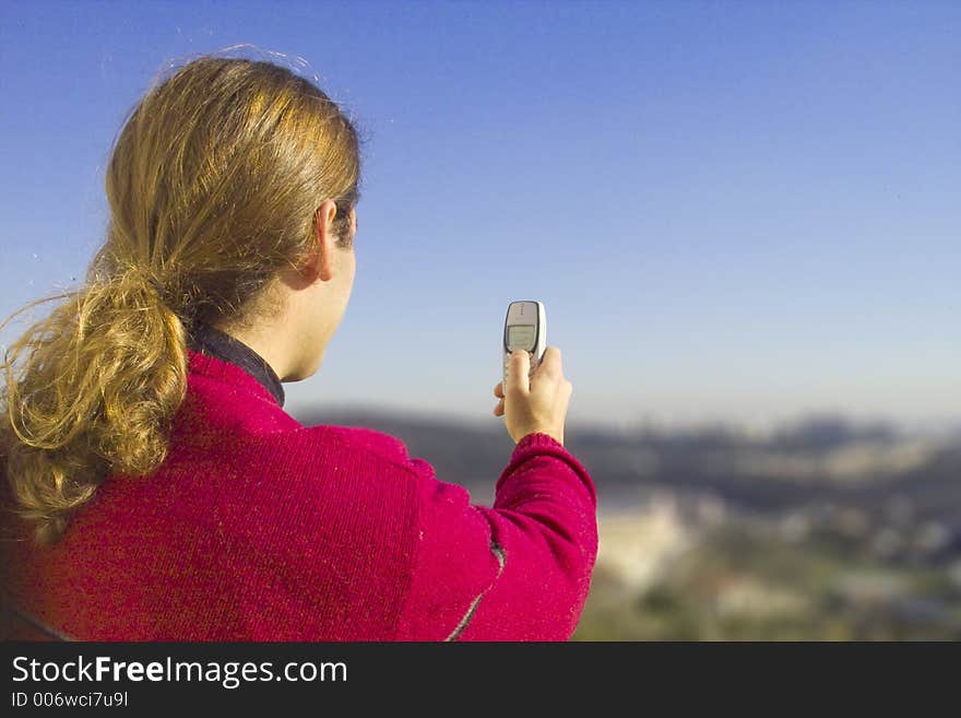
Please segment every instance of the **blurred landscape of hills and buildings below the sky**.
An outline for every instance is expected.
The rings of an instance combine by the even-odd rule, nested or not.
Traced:
[[[402,438],[489,505],[500,422],[335,409],[305,424]],[[961,639],[961,427],[814,416],[616,432],[568,422],[598,492],[580,640]]]

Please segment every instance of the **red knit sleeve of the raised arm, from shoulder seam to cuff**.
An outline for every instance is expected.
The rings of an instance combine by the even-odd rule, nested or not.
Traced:
[[[410,459],[419,496],[416,555],[400,640],[567,640],[597,555],[586,469],[547,434],[529,434],[497,480],[493,507]]]

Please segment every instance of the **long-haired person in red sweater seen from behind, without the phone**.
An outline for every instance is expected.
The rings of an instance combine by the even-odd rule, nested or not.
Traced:
[[[269,62],[201,57],[133,109],[84,285],[8,350],[10,637],[570,638],[596,495],[556,348],[495,387],[517,446],[493,507],[283,410],[351,295],[359,164],[335,103]]]

